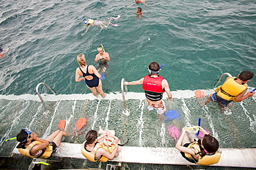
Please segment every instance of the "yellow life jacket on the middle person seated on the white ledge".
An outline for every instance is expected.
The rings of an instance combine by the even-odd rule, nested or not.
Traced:
[[[86,141],[85,141],[86,142]],[[99,148],[103,148],[105,151],[108,151],[109,153],[112,153],[114,149],[116,149],[116,145],[113,145],[112,147],[106,147],[104,145],[102,145],[100,142],[98,142],[95,147],[93,148],[92,151],[86,151],[86,149],[84,149],[84,144],[85,142],[82,144],[82,155],[87,158],[88,160],[90,160],[91,162],[97,162],[97,161],[101,161],[101,162],[107,162],[109,159],[102,156],[99,160],[95,160],[95,154],[96,151]]]

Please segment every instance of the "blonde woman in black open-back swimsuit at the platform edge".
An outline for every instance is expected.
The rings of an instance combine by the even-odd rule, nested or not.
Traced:
[[[86,86],[91,89],[94,96],[97,97],[99,92],[100,96],[105,98],[107,94],[102,90],[102,83],[100,81],[101,75],[98,73],[96,68],[93,65],[86,64],[84,54],[77,55],[77,63],[80,67],[77,67],[75,70],[75,82],[85,80]]]

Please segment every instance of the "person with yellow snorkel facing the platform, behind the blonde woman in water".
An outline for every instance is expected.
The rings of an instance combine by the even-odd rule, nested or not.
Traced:
[[[98,61],[100,61],[97,70],[98,70],[98,72],[104,73],[104,72],[106,72],[107,67],[109,67],[108,61],[110,61],[111,59],[109,57],[109,53],[105,52],[103,46],[98,47],[97,50],[98,50],[99,54],[97,54],[95,56],[94,62],[97,63]]]

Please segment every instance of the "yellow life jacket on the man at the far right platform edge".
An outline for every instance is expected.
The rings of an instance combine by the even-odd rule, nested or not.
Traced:
[[[235,82],[235,78],[236,77],[228,78],[223,85],[220,85],[215,89],[215,92],[217,92],[219,97],[236,102],[235,98],[237,98],[241,92],[244,92],[244,90],[247,89],[247,84],[240,85],[239,83]]]

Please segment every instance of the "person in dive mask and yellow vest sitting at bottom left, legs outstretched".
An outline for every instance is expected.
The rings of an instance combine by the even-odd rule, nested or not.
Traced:
[[[66,131],[57,130],[46,139],[38,138],[37,134],[28,129],[21,129],[17,134],[17,149],[19,153],[30,158],[49,158],[55,149],[60,146],[62,136]]]

